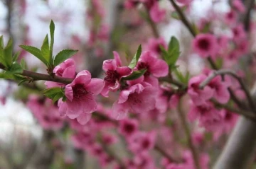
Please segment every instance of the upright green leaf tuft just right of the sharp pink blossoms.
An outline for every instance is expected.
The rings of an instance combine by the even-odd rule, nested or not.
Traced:
[[[169,69],[172,71],[175,69],[176,62],[178,57],[180,56],[180,46],[176,37],[171,37],[171,40],[168,45],[168,49],[164,49],[164,47],[160,47],[161,52],[163,54],[164,60],[169,65]]]

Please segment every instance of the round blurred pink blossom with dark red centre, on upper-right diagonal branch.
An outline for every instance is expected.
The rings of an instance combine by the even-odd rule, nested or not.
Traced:
[[[209,33],[196,35],[192,45],[193,50],[201,57],[214,58],[218,52],[217,38]]]

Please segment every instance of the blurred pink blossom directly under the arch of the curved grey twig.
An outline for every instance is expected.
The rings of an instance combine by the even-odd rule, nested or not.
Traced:
[[[230,93],[228,87],[230,83],[228,81],[222,81],[221,76],[216,76],[208,83],[208,86],[214,90],[213,98],[219,103],[227,103],[230,99]]]

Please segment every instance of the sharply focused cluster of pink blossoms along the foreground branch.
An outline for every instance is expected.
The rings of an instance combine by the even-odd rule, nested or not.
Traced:
[[[164,60],[159,59],[153,52],[143,52],[134,68],[122,66],[121,59],[117,52],[114,52],[114,59],[105,60],[102,69],[105,71],[104,80],[91,78],[89,71],[75,73],[75,62],[68,59],[53,70],[55,76],[73,78],[73,82],[64,85],[62,83],[46,82],[48,88],[65,88],[66,101],[58,100],[60,115],[68,116],[70,119],[77,119],[80,124],[90,120],[91,113],[97,109],[95,96],[100,93],[108,97],[109,92],[119,91],[119,98],[112,106],[112,117],[123,119],[127,112],[146,113],[150,110],[162,110],[161,103],[156,105],[156,100],[163,93],[159,88],[158,78],[166,76],[169,67]],[[146,70],[143,76],[134,80],[124,80],[132,75],[134,71]],[[164,107],[166,107],[164,105]]]

